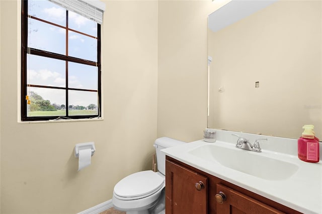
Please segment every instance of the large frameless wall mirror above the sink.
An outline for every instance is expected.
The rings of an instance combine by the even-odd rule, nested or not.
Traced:
[[[231,1],[208,17],[208,128],[322,140],[321,1]],[[240,13],[243,12],[243,13]]]

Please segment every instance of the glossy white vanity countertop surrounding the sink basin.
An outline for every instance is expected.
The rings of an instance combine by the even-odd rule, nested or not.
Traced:
[[[226,133],[231,134],[231,132]],[[241,136],[247,136],[245,133],[237,133]],[[250,136],[247,136],[250,137]],[[256,137],[256,136],[255,136]],[[263,137],[263,136],[261,136]],[[265,136],[266,137],[266,136]],[[252,137],[250,137],[252,138]],[[274,137],[272,137],[274,138]],[[175,158],[183,163],[193,166],[199,170],[202,170],[208,174],[226,180],[232,184],[248,189],[259,195],[267,197],[285,206],[303,212],[308,213],[322,213],[322,162],[318,163],[308,163],[301,161],[297,156],[292,154],[285,154],[276,152],[276,149],[268,150],[262,147],[263,155],[274,155],[275,157],[281,158],[298,166],[298,170],[290,177],[284,180],[266,180],[259,177],[255,177],[250,174],[246,174],[228,167],[221,165],[218,162],[210,161],[205,158],[197,157],[189,153],[189,151],[207,144],[217,144],[218,146],[229,147],[235,146],[235,141],[233,142],[223,142],[220,141],[221,136],[215,143],[207,143],[203,140],[183,144],[180,146],[170,147],[163,149],[162,151],[166,155]],[[269,137],[268,141],[280,141],[280,138],[271,139]],[[283,139],[282,139],[283,140]],[[294,140],[294,139],[291,139]],[[290,141],[293,145],[294,142]],[[264,145],[262,143],[262,145]],[[278,144],[276,144],[278,145]],[[267,146],[266,146],[267,147]],[[297,149],[297,144],[296,144]],[[251,152],[246,150],[241,150],[241,152]],[[232,159],[234,157],[231,157]],[[243,160],[233,160],[243,164]]]

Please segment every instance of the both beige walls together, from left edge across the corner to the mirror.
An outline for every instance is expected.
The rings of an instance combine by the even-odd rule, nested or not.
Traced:
[[[207,15],[225,2],[106,1],[104,121],[20,124],[20,3],[2,0],[1,213],[88,209],[111,199],[124,176],[150,168],[156,137],[201,139]],[[74,145],[88,141],[97,151],[77,172]]]

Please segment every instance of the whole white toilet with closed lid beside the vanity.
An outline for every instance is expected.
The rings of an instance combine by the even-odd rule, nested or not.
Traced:
[[[153,146],[158,172],[136,172],[120,180],[114,186],[114,208],[126,214],[165,213],[166,154],[160,150],[184,143],[167,137],[156,139]]]

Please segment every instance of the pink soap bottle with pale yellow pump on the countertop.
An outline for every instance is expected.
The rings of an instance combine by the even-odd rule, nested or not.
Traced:
[[[319,162],[319,140],[314,136],[313,125],[304,125],[302,137],[297,141],[297,155],[302,161]]]

